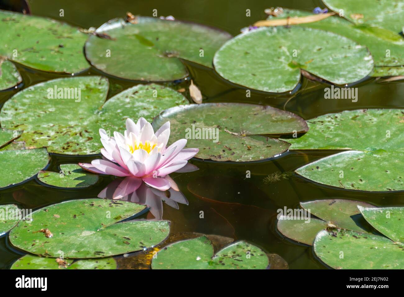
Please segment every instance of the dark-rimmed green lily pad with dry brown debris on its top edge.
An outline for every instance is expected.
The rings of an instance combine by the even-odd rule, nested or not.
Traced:
[[[115,77],[154,82],[186,77],[179,58],[212,67],[213,55],[231,38],[204,25],[140,16],[132,23],[112,19],[96,33],[85,45],[94,67]]]

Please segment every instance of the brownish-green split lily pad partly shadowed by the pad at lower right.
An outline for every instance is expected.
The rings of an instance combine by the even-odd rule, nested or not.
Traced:
[[[305,211],[321,220],[316,218],[305,220],[293,214],[280,216],[277,225],[279,232],[295,241],[313,245],[317,233],[329,227],[358,232],[370,232],[372,229],[360,214],[358,205],[369,209],[375,207],[374,205],[347,199],[315,200],[301,202],[300,205]],[[303,212],[299,213],[302,214]]]

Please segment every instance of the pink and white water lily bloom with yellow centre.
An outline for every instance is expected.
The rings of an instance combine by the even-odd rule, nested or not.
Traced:
[[[136,124],[127,119],[124,135],[114,132],[114,137],[108,137],[104,129],[99,133],[104,146],[101,154],[105,159],[79,165],[93,173],[125,177],[114,192],[114,199],[133,193],[142,181],[158,190],[178,190],[168,174],[181,170],[198,153],[198,148],[184,148],[186,139],[177,140],[167,147],[169,121],[156,133],[143,117]]]

